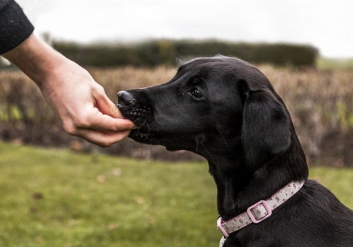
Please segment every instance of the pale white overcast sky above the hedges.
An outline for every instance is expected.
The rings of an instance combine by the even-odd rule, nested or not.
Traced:
[[[56,40],[146,38],[311,44],[353,58],[352,0],[17,0]]]

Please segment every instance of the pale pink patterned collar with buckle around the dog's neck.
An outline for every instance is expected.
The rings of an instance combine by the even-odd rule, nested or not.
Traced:
[[[272,215],[272,211],[276,207],[285,203],[286,200],[292,197],[297,193],[300,188],[304,185],[305,181],[292,181],[287,184],[287,186],[277,191],[275,195],[271,196],[267,200],[261,200],[258,203],[250,206],[246,212],[229,219],[227,222],[224,222],[221,217],[217,220],[217,228],[220,229],[223,236],[226,238],[229,234],[232,234],[234,231],[238,231],[251,223],[258,224],[264,219],[267,219]]]

